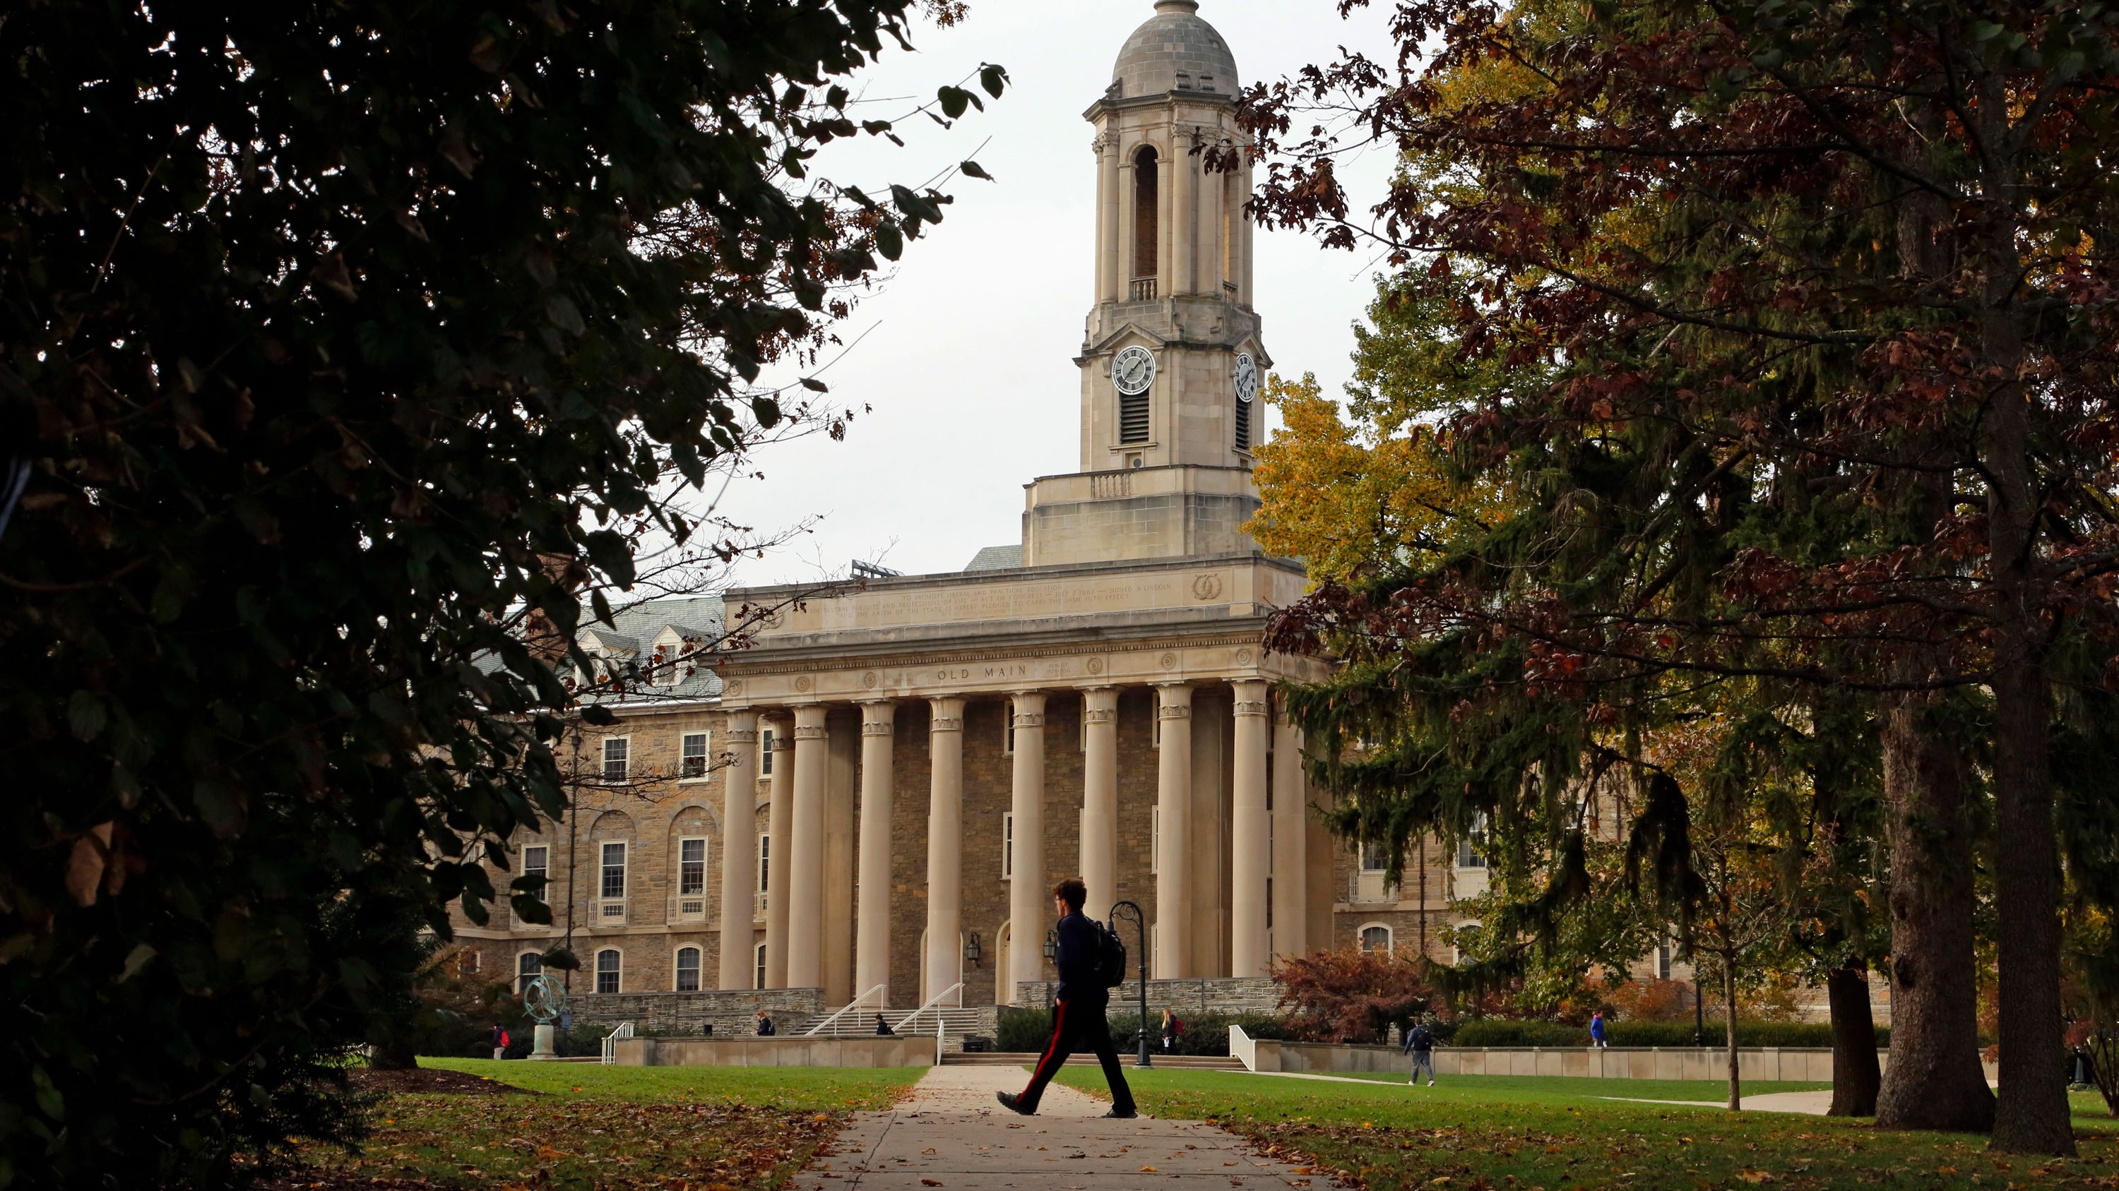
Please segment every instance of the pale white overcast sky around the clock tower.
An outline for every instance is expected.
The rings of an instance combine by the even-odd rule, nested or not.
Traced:
[[[1199,15],[1235,51],[1242,83],[1326,61],[1339,45],[1388,55],[1373,11],[1339,21],[1335,0],[1201,0]],[[862,76],[862,119],[894,117],[981,61],[1013,85],[987,110],[943,131],[901,125],[909,148],[865,142],[822,174],[862,186],[918,184],[962,157],[996,182],[956,178],[947,220],[909,244],[882,292],[841,328],[865,339],[822,379],[841,405],[871,405],[843,443],[816,437],[759,456],[765,477],[729,492],[752,526],[820,515],[814,534],[742,583],[816,579],[854,557],[907,574],[960,570],[979,547],[1021,540],[1023,483],[1079,464],[1083,318],[1093,290],[1096,159],[1083,119],[1110,83],[1125,36],[1151,0],[973,0],[954,30],[924,30],[920,51],[892,53]],[[1354,165],[1388,174],[1386,153]],[[1373,193],[1373,186],[1369,186]],[[1375,292],[1367,256],[1326,252],[1297,233],[1257,237],[1257,309],[1282,375],[1318,373],[1337,394],[1350,373],[1352,322]]]

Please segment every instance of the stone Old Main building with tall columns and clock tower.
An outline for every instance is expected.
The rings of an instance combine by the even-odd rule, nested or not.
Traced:
[[[1197,4],[1161,0],[1087,112],[1081,468],[1026,485],[1019,545],[801,604],[771,587],[646,604],[587,634],[621,668],[788,604],[714,674],[672,674],[583,742],[612,788],[519,841],[562,926],[466,924],[481,966],[534,973],[570,918],[583,1007],[992,1005],[1043,1000],[1019,985],[1053,975],[1064,875],[1091,913],[1144,909],[1155,979],[1233,981],[1316,947],[1426,947],[1449,894],[1483,886],[1477,854],[1430,846],[1418,888],[1386,888],[1305,814],[1301,740],[1269,691],[1316,663],[1259,648],[1303,570],[1242,528],[1269,365],[1250,176],[1195,155],[1242,142],[1235,85]]]

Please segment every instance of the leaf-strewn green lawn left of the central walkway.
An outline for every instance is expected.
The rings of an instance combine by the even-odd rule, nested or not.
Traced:
[[[888,1108],[924,1068],[627,1068],[420,1060],[538,1096],[390,1094],[358,1153],[318,1146],[271,1191],[765,1191],[852,1110]]]

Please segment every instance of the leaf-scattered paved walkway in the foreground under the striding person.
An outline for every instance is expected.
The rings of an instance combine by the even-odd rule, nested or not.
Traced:
[[[1021,1091],[1013,1066],[937,1066],[892,1113],[860,1113],[793,1187],[898,1191],[1108,1191],[1119,1187],[1329,1187],[1267,1161],[1233,1134],[1197,1121],[1104,1121],[1110,1104],[1051,1085],[1036,1117],[994,1091]]]

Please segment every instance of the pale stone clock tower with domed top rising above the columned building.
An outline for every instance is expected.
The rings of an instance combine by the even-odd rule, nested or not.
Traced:
[[[1235,55],[1197,0],[1157,0],[1096,125],[1096,303],[1081,356],[1081,470],[1028,485],[1023,564],[1250,553],[1250,451],[1271,360],[1252,309],[1250,163]]]

